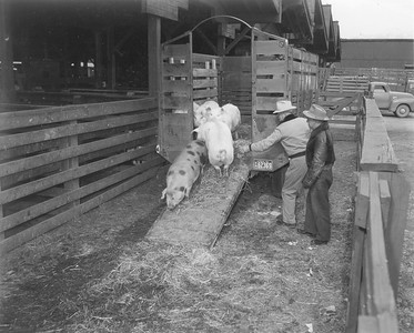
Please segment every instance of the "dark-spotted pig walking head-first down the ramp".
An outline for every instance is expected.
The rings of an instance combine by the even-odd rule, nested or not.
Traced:
[[[208,161],[205,143],[191,141],[176,157],[166,173],[166,188],[161,199],[166,198],[166,206],[175,208],[184,198],[189,198],[191,188]]]

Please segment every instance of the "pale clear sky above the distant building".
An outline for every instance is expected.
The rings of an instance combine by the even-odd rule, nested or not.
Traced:
[[[341,39],[414,39],[414,0],[322,0]]]

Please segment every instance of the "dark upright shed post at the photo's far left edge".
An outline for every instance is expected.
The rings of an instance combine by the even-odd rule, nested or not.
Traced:
[[[0,102],[11,102],[16,99],[13,78],[13,52],[9,29],[8,3],[0,1]]]

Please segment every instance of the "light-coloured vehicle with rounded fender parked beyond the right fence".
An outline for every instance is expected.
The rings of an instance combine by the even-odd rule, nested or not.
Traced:
[[[371,82],[376,105],[381,111],[393,112],[398,118],[404,118],[414,112],[414,95],[408,92],[392,91],[385,82]]]

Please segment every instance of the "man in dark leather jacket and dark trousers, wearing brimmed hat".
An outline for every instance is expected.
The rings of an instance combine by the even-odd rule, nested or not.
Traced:
[[[304,230],[299,229],[297,232],[314,236],[312,244],[321,245],[331,239],[329,190],[333,181],[335,152],[325,109],[312,104],[303,111],[303,115],[307,118],[312,133],[306,145],[307,172],[302,181],[303,186],[309,189],[305,225]]]

